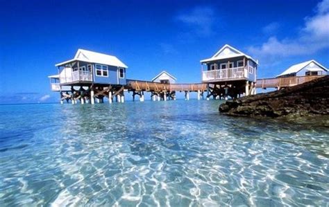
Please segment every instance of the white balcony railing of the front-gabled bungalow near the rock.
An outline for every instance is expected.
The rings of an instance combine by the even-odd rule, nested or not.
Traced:
[[[239,80],[248,79],[248,70],[245,67],[203,71],[202,81],[209,80]]]

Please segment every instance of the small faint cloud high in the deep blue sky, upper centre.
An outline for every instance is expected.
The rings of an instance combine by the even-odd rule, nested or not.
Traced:
[[[214,34],[215,10],[210,6],[198,6],[181,12],[175,19],[183,22],[196,35],[209,36]]]

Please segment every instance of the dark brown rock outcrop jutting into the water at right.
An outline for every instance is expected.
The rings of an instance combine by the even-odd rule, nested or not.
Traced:
[[[329,115],[329,75],[294,87],[228,100],[219,106],[232,116]]]

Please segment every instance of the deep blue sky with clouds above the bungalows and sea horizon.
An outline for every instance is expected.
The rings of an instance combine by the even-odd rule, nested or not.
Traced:
[[[200,82],[199,60],[230,44],[268,78],[315,59],[329,67],[329,0],[3,1],[0,103],[56,102],[47,75],[78,48],[119,57],[127,78],[167,70]]]

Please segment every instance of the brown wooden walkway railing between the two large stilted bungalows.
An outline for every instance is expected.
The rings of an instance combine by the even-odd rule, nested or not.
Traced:
[[[207,84],[165,84],[160,82],[150,82],[142,80],[127,80],[130,89],[136,91],[205,91]]]

